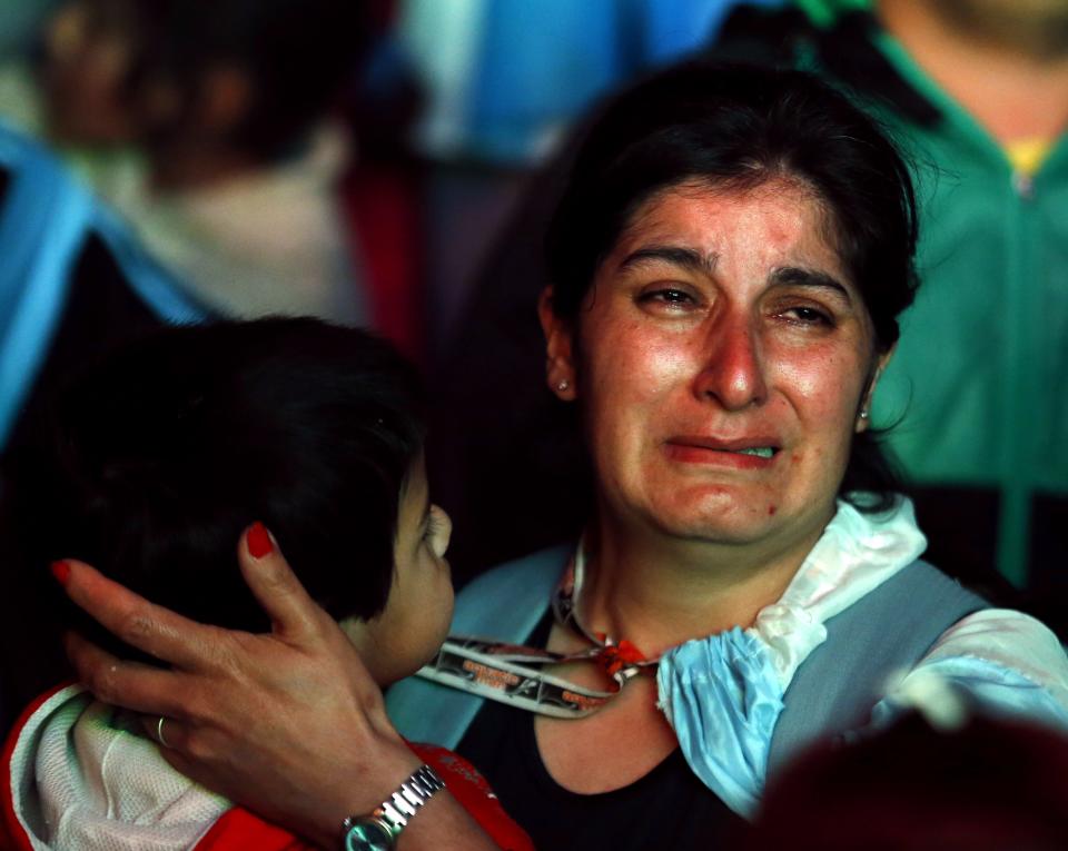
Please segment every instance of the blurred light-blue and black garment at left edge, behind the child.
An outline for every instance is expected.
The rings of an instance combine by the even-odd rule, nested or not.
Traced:
[[[0,254],[0,461],[80,364],[212,316],[61,161],[2,125]]]

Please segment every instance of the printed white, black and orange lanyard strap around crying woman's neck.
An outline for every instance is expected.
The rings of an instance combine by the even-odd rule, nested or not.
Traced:
[[[584,555],[580,544],[553,593],[552,607],[558,624],[571,629],[593,646],[564,654],[469,635],[449,635],[418,675],[542,715],[584,718],[596,712],[630,680],[655,665],[660,659],[645,659],[631,642],[615,642],[583,625],[578,617],[578,595]],[[571,662],[597,664],[612,677],[615,687],[611,691],[587,689],[544,670]]]

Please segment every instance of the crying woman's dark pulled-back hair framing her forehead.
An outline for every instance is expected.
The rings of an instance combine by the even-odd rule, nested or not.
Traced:
[[[899,336],[918,286],[908,166],[878,125],[803,71],[695,60],[610,102],[575,159],[546,238],[553,309],[572,319],[601,261],[659,190],[704,182],[745,190],[787,179],[827,211],[827,238],[864,299],[876,350]],[[840,493],[881,511],[899,491],[871,432],[853,442]],[[873,498],[872,498],[873,497]]]

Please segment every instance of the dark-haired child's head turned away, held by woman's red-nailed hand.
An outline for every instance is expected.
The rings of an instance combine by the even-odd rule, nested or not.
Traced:
[[[441,644],[448,518],[427,502],[414,369],[313,319],[175,328],[88,369],[56,405],[39,558],[77,557],[205,623],[264,631],[237,568],[261,521],[379,682]],[[93,639],[98,639],[95,634]]]

